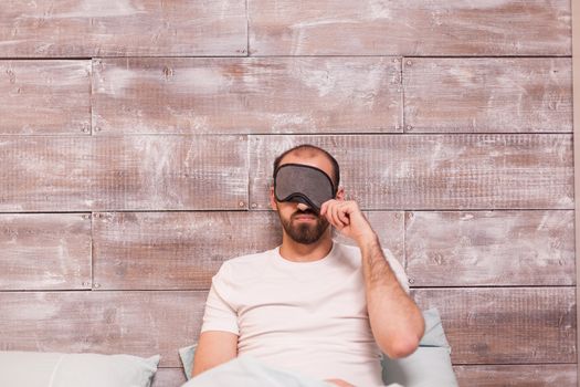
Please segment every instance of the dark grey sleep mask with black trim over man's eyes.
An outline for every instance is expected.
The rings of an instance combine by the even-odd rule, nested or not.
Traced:
[[[277,201],[305,203],[319,213],[323,203],[335,198],[336,189],[321,169],[303,164],[284,164],[274,174],[274,196]]]

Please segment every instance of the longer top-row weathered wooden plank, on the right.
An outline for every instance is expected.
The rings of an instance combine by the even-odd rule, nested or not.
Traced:
[[[250,54],[570,55],[570,19],[566,0],[249,0]]]

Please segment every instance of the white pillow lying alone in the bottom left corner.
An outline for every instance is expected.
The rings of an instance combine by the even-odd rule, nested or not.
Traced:
[[[149,387],[160,356],[0,351],[0,386]]]

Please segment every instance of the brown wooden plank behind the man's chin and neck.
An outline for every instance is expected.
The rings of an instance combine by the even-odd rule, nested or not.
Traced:
[[[402,262],[402,212],[372,212],[369,220]],[[97,289],[208,290],[223,261],[278,245],[282,227],[274,211],[98,212],[93,238]]]

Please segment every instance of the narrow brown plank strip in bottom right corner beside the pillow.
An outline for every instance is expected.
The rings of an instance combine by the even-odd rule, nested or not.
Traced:
[[[455,366],[460,386],[577,387],[576,364]]]

